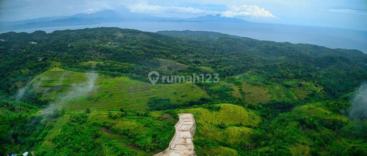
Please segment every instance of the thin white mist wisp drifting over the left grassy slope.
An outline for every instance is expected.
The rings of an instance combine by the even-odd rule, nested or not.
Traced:
[[[56,98],[56,101],[51,102],[44,110],[40,113],[49,116],[55,110],[60,110],[65,103],[71,101],[74,98],[84,97],[92,93],[95,89],[94,82],[98,78],[96,73],[86,73],[87,80],[81,83],[72,83],[69,91]],[[63,78],[63,77],[62,77]]]

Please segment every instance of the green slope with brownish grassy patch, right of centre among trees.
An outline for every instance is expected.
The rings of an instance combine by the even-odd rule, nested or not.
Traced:
[[[289,80],[273,83],[251,74],[220,79],[219,83],[208,84],[207,91],[214,98],[223,100],[233,97],[241,99],[246,104],[267,103],[271,100],[303,103],[325,98],[322,87],[315,86],[311,82]]]

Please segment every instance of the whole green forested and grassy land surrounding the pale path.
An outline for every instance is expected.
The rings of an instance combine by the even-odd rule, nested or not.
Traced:
[[[186,112],[198,156],[367,155],[367,120],[349,114],[367,80],[358,50],[105,27],[0,39],[1,155],[153,155]],[[150,71],[220,82],[151,85]]]

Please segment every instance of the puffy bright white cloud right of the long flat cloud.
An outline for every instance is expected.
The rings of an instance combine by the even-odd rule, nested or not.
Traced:
[[[276,18],[276,16],[274,16],[268,10],[260,8],[257,5],[231,5],[229,6],[229,11],[223,12],[222,16],[228,18],[244,16],[252,16],[257,18]]]

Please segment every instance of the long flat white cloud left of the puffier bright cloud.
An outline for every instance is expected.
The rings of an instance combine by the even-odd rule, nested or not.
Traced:
[[[160,13],[198,14],[206,12],[204,10],[195,9],[192,7],[160,6],[160,5],[149,5],[147,3],[137,3],[133,5],[128,5],[127,8],[131,12],[144,13],[144,14],[160,14]]]

